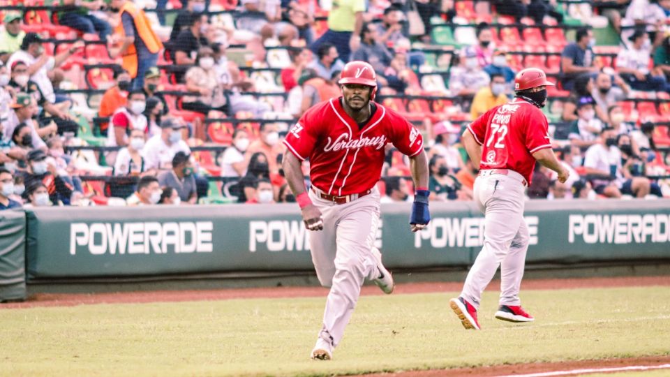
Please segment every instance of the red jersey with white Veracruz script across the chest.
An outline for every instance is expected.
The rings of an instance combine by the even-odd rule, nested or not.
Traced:
[[[377,110],[362,128],[344,111],[339,98],[307,110],[284,144],[297,158],[309,158],[314,186],[330,195],[350,195],[373,188],[380,179],[387,143],[403,154],[422,151],[421,134],[393,110]]]

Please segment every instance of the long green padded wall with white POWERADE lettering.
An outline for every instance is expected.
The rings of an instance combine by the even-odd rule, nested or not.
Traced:
[[[484,240],[473,203],[432,203],[415,234],[409,211],[382,205],[387,267],[472,263]],[[528,263],[670,258],[670,200],[530,201],[526,222]],[[297,205],[33,209],[27,228],[29,279],[313,269]]]

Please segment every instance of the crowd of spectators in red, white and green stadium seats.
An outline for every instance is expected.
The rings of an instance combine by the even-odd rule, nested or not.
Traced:
[[[283,137],[350,60],[424,134],[431,200],[472,198],[461,131],[530,66],[574,174],[538,165],[529,198],[670,196],[670,0],[3,0],[0,21],[0,209],[293,201]],[[385,202],[409,175],[389,148]]]

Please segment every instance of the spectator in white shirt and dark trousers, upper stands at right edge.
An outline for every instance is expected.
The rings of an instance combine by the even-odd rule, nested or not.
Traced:
[[[630,49],[622,48],[616,56],[616,68],[623,80],[636,90],[665,91],[665,76],[652,75],[649,71],[650,43],[645,31],[636,30],[630,36]]]

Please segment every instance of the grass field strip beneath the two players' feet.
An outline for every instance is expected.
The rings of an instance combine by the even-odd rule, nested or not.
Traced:
[[[324,376],[670,355],[667,287],[526,291],[537,319],[523,325],[494,319],[487,292],[481,332],[463,330],[452,295],[362,297],[332,362],[308,359],[325,297],[0,309],[0,375]]]

